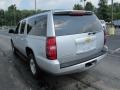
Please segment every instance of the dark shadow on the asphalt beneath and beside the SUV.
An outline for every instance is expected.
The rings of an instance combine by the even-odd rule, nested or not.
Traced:
[[[42,71],[40,77],[35,79],[30,73],[28,63],[23,58],[13,55],[12,52],[9,56],[9,60],[12,60],[12,65],[17,71],[17,77],[32,90],[83,90],[90,86],[82,81],[88,76],[89,71],[62,76]]]

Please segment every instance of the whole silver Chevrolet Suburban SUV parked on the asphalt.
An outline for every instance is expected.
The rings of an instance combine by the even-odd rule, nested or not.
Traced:
[[[24,55],[33,76],[42,69],[54,75],[87,70],[107,54],[106,36],[90,11],[46,11],[19,22],[11,44]]]

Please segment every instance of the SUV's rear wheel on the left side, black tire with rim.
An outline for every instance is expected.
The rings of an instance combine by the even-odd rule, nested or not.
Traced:
[[[35,61],[35,57],[32,53],[29,54],[28,57],[29,57],[29,68],[30,68],[31,74],[33,77],[38,78],[40,72],[39,72],[39,67]]]

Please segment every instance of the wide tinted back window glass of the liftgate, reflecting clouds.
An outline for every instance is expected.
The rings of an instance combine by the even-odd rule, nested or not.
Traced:
[[[56,36],[99,32],[102,29],[102,26],[95,15],[54,15],[54,25]]]

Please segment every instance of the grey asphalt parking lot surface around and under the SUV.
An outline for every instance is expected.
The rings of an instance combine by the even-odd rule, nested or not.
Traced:
[[[97,66],[85,72],[35,80],[22,58],[12,54],[7,32],[0,34],[0,90],[120,90],[120,34],[107,37],[109,53]]]

